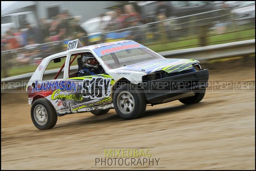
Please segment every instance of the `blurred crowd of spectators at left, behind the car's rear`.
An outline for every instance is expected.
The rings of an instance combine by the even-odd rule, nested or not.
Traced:
[[[25,21],[22,27],[11,27],[1,36],[1,51],[25,47],[31,40],[34,44],[42,44],[86,36],[78,23],[79,17],[71,17],[66,10],[52,19],[40,19],[39,27]]]

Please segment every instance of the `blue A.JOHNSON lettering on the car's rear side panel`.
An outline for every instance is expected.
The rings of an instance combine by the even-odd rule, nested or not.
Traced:
[[[55,89],[66,91],[77,91],[78,82],[72,81],[47,81],[40,84],[38,81],[35,83],[35,88],[32,89],[32,93],[37,91],[50,91]]]

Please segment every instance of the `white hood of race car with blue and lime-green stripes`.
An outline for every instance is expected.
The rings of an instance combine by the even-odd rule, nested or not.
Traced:
[[[148,74],[161,70],[167,73],[175,73],[191,69],[192,65],[197,63],[199,61],[193,59],[162,58],[123,66],[118,68],[118,70],[140,71],[147,72]]]

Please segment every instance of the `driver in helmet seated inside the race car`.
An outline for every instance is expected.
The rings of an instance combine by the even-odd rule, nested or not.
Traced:
[[[94,56],[83,54],[81,59],[84,69],[78,71],[78,77],[102,74],[103,68]]]

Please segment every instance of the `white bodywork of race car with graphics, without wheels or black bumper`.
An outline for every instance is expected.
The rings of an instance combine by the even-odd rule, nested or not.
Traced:
[[[68,68],[71,55],[85,52],[92,53],[92,55],[99,61],[105,73],[69,78]],[[141,52],[141,54],[137,52]],[[118,64],[123,66],[117,67],[115,66],[116,61],[112,55],[114,53],[116,55],[126,53],[127,55],[130,55],[130,57],[123,55],[118,58]],[[63,68],[63,78],[46,82],[43,81],[44,72],[49,62],[52,59],[64,56],[66,56],[66,61]],[[113,57],[113,61],[107,60],[110,56]],[[81,47],[57,53],[42,60],[28,82],[26,88],[29,93],[28,102],[31,105],[36,99],[45,97],[52,103],[58,116],[114,108],[111,93],[114,85],[120,79],[128,80],[132,84],[142,84],[143,76],[154,74],[156,72],[163,72],[165,74],[182,74],[182,72],[195,73],[195,65],[200,67],[199,62],[196,60],[164,58],[145,46],[129,40]],[[196,72],[202,73],[202,71]],[[207,76],[208,80],[208,70],[207,73],[206,71],[204,72],[205,74],[203,76]],[[196,76],[197,75],[198,74],[196,74]],[[97,79],[99,80],[98,82]],[[96,89],[95,86],[101,86],[102,88],[99,90]],[[106,89],[104,90],[104,88]],[[90,92],[90,95],[84,95],[84,92],[88,93],[88,91]],[[99,95],[100,91],[102,91],[102,93]],[[58,98],[57,94],[59,94]],[[80,101],[78,97],[79,99],[81,98]],[[152,104],[154,102],[148,99],[148,103]]]

